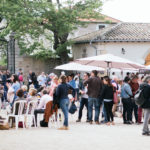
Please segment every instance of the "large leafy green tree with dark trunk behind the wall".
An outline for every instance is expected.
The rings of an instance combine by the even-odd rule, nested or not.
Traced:
[[[101,6],[101,0],[1,0],[1,18],[8,26],[0,36],[13,31],[22,54],[36,50],[42,57],[44,53],[47,57],[59,56],[64,63],[68,61],[67,47],[72,44],[69,34],[86,25],[82,19],[100,17]],[[41,36],[49,39],[53,48],[45,48]]]

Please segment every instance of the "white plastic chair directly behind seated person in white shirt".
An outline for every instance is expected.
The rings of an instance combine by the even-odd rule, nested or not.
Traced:
[[[37,108],[37,105],[38,105],[38,100],[32,100],[28,102],[28,105],[27,105],[27,111],[25,114],[26,126],[29,126],[30,128],[32,126],[32,121],[34,121],[34,126],[36,127],[34,110]]]

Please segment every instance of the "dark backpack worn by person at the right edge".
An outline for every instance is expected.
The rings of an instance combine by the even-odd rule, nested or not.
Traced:
[[[139,88],[134,96],[135,103],[138,106],[142,106],[144,102],[146,101],[145,96],[144,96],[144,87],[145,86],[143,86],[142,88]]]

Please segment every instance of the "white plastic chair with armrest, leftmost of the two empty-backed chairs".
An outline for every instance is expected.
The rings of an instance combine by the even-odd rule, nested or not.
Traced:
[[[25,113],[24,113],[24,110],[25,110],[26,104],[27,104],[26,100],[16,101],[14,103],[14,106],[13,106],[13,113],[10,114],[10,115],[8,115],[8,119],[10,117],[15,118],[16,129],[18,129],[18,123],[19,123],[19,121],[22,122],[23,128],[25,128],[25,126],[24,126],[24,123],[25,123]],[[16,110],[17,109],[17,107],[16,107],[17,105],[18,105],[18,110]],[[17,113],[17,115],[15,113]]]

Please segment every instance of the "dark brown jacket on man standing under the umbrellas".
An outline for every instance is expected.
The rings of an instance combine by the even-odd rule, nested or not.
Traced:
[[[88,96],[91,98],[99,98],[102,82],[99,77],[91,77],[84,82],[84,85],[88,84]]]

